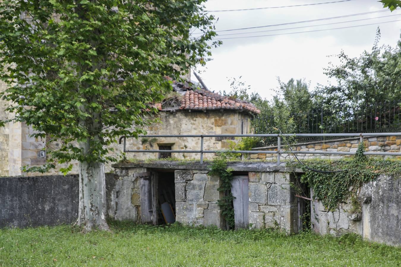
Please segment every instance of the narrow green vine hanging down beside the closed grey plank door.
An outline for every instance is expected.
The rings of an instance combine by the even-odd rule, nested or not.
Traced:
[[[220,187],[217,189],[224,193],[224,196],[217,201],[221,209],[221,215],[226,221],[227,228],[234,228],[234,196],[231,193],[231,180],[233,179],[233,169],[227,167],[227,157],[229,153],[219,153],[212,162],[211,175],[220,177]]]

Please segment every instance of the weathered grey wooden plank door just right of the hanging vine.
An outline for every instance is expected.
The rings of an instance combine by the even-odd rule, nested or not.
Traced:
[[[248,228],[249,210],[249,178],[248,176],[234,176],[231,181],[231,193],[234,196],[235,229]]]

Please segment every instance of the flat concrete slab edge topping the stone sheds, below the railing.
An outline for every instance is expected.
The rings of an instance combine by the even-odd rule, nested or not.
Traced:
[[[171,169],[171,170],[210,170],[211,163],[205,162],[201,164],[199,161],[153,161],[145,162],[138,161],[135,163],[117,163],[111,165],[113,168],[152,168],[152,169]],[[251,172],[295,172],[304,173],[302,169],[286,167],[286,163],[283,162],[277,166],[275,162],[228,162],[227,166],[232,168],[234,171],[251,171]]]

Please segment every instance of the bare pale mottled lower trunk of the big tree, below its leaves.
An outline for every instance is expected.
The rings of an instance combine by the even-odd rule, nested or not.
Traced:
[[[106,222],[104,163],[79,163],[79,211],[77,224],[84,232],[109,230]]]

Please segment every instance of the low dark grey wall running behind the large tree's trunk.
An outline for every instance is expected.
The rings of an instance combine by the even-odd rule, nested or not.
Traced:
[[[135,206],[131,204],[132,192],[135,193],[132,189],[137,187],[131,181],[106,173],[109,217],[136,220]],[[78,217],[78,196],[78,175],[0,177],[0,227],[73,223]]]

